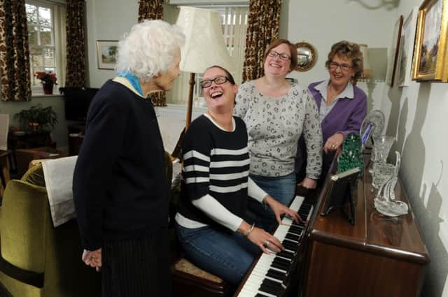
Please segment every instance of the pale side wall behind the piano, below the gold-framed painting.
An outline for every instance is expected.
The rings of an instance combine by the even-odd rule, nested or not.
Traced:
[[[400,1],[395,19],[406,17],[420,0]],[[402,152],[400,177],[421,226],[431,262],[422,296],[448,296],[448,84],[410,82],[387,87],[381,110],[386,133],[396,137],[393,149]]]

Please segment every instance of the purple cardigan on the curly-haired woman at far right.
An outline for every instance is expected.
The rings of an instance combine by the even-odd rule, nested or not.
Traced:
[[[314,87],[320,82],[313,82],[308,86],[309,92],[316,101],[318,110],[321,110],[322,96]],[[353,99],[339,98],[330,110],[330,113],[325,116],[321,122],[323,145],[330,136],[337,132],[344,134],[344,138],[349,133],[359,133],[360,126],[367,113],[367,96],[364,91],[353,85]],[[295,160],[296,171],[299,171],[301,166],[306,166],[306,156],[304,150],[301,149],[302,144],[299,140],[299,147],[297,150],[297,157]],[[323,168],[321,178],[324,178],[328,168],[330,168],[331,161],[334,154],[323,153]]]

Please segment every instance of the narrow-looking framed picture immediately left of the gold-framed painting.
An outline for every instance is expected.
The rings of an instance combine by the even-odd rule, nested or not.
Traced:
[[[414,54],[415,29],[417,24],[418,7],[412,8],[401,29],[400,52],[397,66],[397,85],[407,87],[411,80],[412,56]]]

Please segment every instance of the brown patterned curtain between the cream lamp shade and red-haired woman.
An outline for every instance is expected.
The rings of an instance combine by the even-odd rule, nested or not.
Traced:
[[[263,75],[263,54],[279,38],[281,0],[250,0],[243,82]]]

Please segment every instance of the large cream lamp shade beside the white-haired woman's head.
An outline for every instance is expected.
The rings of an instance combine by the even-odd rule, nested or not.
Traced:
[[[186,43],[181,49],[181,71],[204,73],[213,65],[222,66],[229,72],[235,71],[217,11],[181,6],[176,24],[186,34]]]

